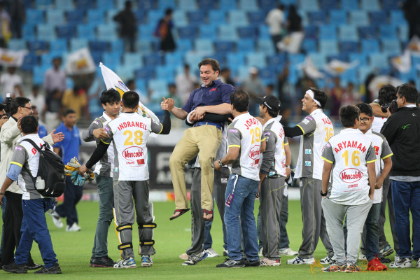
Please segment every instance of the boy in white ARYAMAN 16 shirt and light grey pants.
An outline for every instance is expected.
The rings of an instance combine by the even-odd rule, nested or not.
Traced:
[[[335,260],[324,272],[360,272],[357,265],[360,235],[372,207],[377,161],[372,141],[358,130],[360,110],[343,106],[339,120],[344,130],[331,137],[322,153],[322,209]],[[328,185],[332,173],[332,186]],[[347,222],[346,252],[344,251],[344,217]]]

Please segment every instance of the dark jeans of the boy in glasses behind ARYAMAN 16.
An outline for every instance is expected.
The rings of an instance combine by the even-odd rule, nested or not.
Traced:
[[[370,207],[363,230],[363,242],[367,261],[372,260],[375,255],[379,255],[379,214],[381,214],[381,204],[375,203]]]

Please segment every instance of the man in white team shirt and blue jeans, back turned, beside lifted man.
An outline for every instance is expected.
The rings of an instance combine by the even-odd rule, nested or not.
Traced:
[[[228,127],[228,153],[214,162],[216,170],[232,163],[232,174],[229,176],[225,192],[229,258],[216,267],[259,266],[253,209],[260,181],[260,153],[265,151],[265,137],[262,134],[261,123],[248,113],[248,93],[236,90],[230,94],[230,104],[235,118]]]

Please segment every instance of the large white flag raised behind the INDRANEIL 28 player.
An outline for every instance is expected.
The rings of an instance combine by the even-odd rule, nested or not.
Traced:
[[[106,67],[102,62],[99,63],[99,67],[101,67],[102,76],[104,77],[104,82],[106,89],[109,90],[110,88],[115,88],[118,92],[121,94],[121,98],[123,98],[124,92],[129,91],[130,89],[123,83],[123,80],[114,73],[111,69]],[[139,102],[139,109],[140,111],[137,111],[137,113],[142,114],[144,117],[151,118],[156,123],[160,123],[159,118],[153,113],[151,110],[149,110],[146,106],[144,106],[141,102]]]

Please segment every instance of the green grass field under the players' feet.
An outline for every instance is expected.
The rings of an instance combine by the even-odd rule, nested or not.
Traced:
[[[258,202],[255,202],[258,209]],[[137,255],[137,269],[113,269],[89,267],[90,255],[94,231],[99,213],[98,202],[80,202],[78,204],[80,232],[66,232],[64,228],[57,229],[47,215],[48,228],[54,246],[55,253],[62,268],[62,275],[45,276],[48,279],[320,279],[339,277],[341,279],[419,279],[419,269],[398,269],[390,272],[360,272],[356,274],[312,274],[308,265],[286,265],[286,260],[292,257],[281,258],[280,267],[244,267],[241,269],[216,269],[216,265],[224,261],[219,258],[207,258],[192,267],[181,265],[179,258],[191,244],[190,214],[185,214],[174,221],[169,221],[169,216],[174,211],[173,202],[155,202],[155,229],[154,239],[157,254],[153,258],[153,266],[142,268],[140,258]],[[287,225],[290,247],[297,251],[302,241],[302,218],[300,203],[289,202],[289,222]],[[0,223],[1,225],[1,223]],[[135,225],[134,225],[135,227]],[[387,237],[391,237],[389,225],[386,225]],[[214,245],[213,248],[221,254],[223,252],[223,234],[221,221],[216,214],[211,230]],[[138,233],[133,234],[134,247],[138,246]],[[113,224],[109,229],[109,255],[118,260],[117,239]],[[42,263],[37,244],[34,242],[32,257],[36,263]],[[315,251],[316,258],[324,258],[325,248],[321,241]],[[393,258],[394,255],[391,255]],[[414,262],[413,262],[414,263]],[[314,268],[317,272],[318,268]],[[8,274],[0,271],[0,279],[41,279],[41,276]]]

